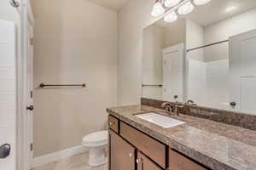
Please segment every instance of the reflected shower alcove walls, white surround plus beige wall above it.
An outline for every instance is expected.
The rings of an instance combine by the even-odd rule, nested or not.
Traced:
[[[253,8],[205,27],[188,20],[187,47],[196,48],[202,44],[223,41],[256,29],[255,14],[256,8]],[[188,99],[194,99],[200,105],[229,108],[229,57],[229,42],[196,49],[187,54]]]

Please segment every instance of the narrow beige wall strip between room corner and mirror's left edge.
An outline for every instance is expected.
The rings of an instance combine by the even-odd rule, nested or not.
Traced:
[[[119,105],[139,104],[143,56],[143,28],[151,17],[151,0],[130,0],[119,10]]]

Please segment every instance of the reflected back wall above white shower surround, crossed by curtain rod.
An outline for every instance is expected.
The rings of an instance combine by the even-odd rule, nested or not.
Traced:
[[[227,20],[222,20],[205,27],[205,43],[229,39],[229,37],[256,29],[256,8],[237,14]],[[229,43],[225,42],[205,48],[205,61],[229,58]]]

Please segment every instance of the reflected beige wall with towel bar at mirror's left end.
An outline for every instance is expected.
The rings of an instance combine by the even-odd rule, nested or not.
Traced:
[[[162,84],[164,33],[164,28],[156,25],[148,26],[143,30],[143,84]],[[150,99],[162,99],[162,88],[144,87],[142,96]]]

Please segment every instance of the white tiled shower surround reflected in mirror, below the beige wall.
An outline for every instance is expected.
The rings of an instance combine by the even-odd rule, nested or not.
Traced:
[[[202,62],[189,59],[188,98],[197,104],[228,107],[229,59]]]

